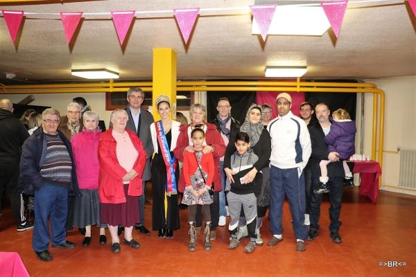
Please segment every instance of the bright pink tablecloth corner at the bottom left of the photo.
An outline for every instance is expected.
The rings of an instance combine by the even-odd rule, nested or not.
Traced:
[[[26,277],[30,276],[18,253],[0,252],[0,276],[1,277]]]

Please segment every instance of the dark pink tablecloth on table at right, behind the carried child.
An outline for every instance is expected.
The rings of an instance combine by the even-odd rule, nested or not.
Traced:
[[[369,197],[372,204],[376,204],[379,195],[380,163],[377,161],[353,161],[352,172],[360,173],[360,195]]]

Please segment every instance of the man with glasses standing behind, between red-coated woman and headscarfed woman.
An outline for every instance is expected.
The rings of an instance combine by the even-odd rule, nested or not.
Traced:
[[[223,138],[224,144],[228,145],[230,137],[235,137],[240,132],[240,123],[231,117],[231,105],[229,100],[225,97],[218,99],[217,104],[218,114],[214,120],[209,121],[216,126],[218,132],[220,132]],[[233,142],[234,143],[234,142]],[[219,226],[224,226],[227,216],[227,210],[225,209],[225,173],[224,173],[224,157],[220,157],[221,179],[223,180],[223,190],[220,191],[220,220]]]

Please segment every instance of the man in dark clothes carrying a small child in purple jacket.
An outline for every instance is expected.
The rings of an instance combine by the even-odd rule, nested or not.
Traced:
[[[338,231],[342,222],[339,221],[341,212],[341,201],[343,199],[343,179],[345,172],[343,168],[343,161],[338,158],[337,152],[328,152],[328,145],[324,141],[324,137],[331,129],[331,122],[329,121],[329,108],[326,104],[318,104],[315,107],[315,114],[318,118],[311,127],[309,127],[309,134],[311,135],[312,154],[309,162],[311,163],[312,171],[312,187],[313,190],[320,188],[319,177],[321,170],[319,163],[322,160],[329,160],[331,163],[327,165],[329,181],[329,235],[333,242],[341,243]],[[309,217],[311,221],[311,231],[308,233],[306,240],[314,240],[318,236],[319,218],[320,218],[320,203],[322,202],[322,193],[311,193],[311,206],[309,208]]]

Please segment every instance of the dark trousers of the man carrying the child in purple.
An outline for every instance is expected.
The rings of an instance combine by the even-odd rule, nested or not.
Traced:
[[[342,222],[340,222],[341,202],[343,200],[343,179],[344,177],[331,176],[327,185],[329,185],[329,231],[338,232]],[[321,182],[319,178],[312,178],[311,186],[311,206],[309,208],[309,221],[311,222],[311,230],[318,231],[320,219],[320,204],[322,202],[322,193],[313,193],[313,190],[320,188]]]

